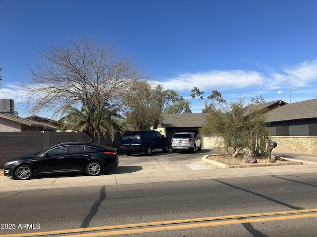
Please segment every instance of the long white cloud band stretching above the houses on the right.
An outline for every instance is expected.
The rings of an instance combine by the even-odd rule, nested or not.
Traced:
[[[155,81],[162,84],[164,89],[189,91],[193,87],[201,90],[232,90],[244,88],[261,88],[263,91],[276,90],[281,87],[302,87],[317,82],[317,60],[305,61],[293,67],[282,69],[282,73],[274,71],[217,71],[206,73],[183,73],[164,81]]]

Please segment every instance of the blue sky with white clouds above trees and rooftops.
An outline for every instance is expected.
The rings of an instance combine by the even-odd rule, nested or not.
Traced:
[[[316,0],[0,0],[0,98],[28,116],[14,82],[35,50],[85,31],[132,55],[193,113],[204,107],[194,86],[228,101],[316,99],[316,12]]]

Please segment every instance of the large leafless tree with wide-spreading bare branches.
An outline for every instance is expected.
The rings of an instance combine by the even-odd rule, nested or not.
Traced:
[[[103,43],[83,33],[65,36],[63,44],[46,42],[43,49],[37,50],[35,59],[28,68],[29,77],[17,84],[26,94],[29,111],[58,118],[69,107],[83,106],[87,108],[83,131],[92,142],[92,114],[97,115],[99,136],[107,107],[119,108],[136,82],[149,79],[130,56],[119,55],[111,42]]]

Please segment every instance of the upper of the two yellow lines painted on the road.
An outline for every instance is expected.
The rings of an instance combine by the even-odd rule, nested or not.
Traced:
[[[113,229],[159,226],[159,225],[170,225],[170,224],[184,224],[184,223],[202,222],[202,221],[215,221],[215,220],[223,220],[223,219],[271,216],[271,215],[287,215],[287,214],[298,214],[298,213],[307,213],[307,212],[317,212],[317,208],[291,210],[291,211],[279,211],[279,212],[264,212],[264,213],[215,216],[215,217],[159,221],[159,222],[146,222],[146,223],[124,224],[124,225],[114,225],[114,226],[88,227],[88,228],[78,228],[78,229],[69,229],[69,230],[47,231],[47,232],[8,234],[8,235],[0,235],[0,237],[33,237],[33,236],[44,236],[44,235],[60,235],[60,234],[71,234],[71,233],[88,232],[88,231],[101,231],[101,230],[111,230],[111,229],[113,230]],[[83,237],[83,234],[81,234],[81,236]]]

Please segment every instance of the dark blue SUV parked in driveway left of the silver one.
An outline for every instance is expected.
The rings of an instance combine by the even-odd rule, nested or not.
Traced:
[[[151,156],[152,150],[155,149],[168,152],[169,141],[155,130],[126,131],[122,136],[120,148],[124,149],[127,156],[137,152]]]

